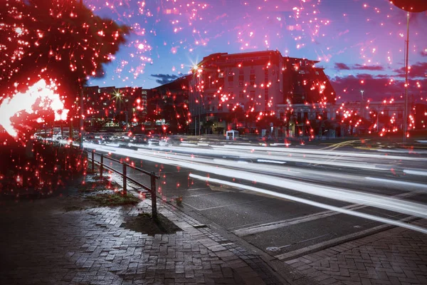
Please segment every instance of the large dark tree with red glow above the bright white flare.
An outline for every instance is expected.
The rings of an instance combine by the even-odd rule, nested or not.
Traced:
[[[103,65],[111,61],[130,32],[127,26],[95,16],[78,1],[4,1],[0,57],[8,60],[0,62],[4,92],[0,103],[15,90],[25,92],[44,79],[56,81],[56,92],[63,95],[65,108],[73,109],[75,95],[88,76],[104,75]]]

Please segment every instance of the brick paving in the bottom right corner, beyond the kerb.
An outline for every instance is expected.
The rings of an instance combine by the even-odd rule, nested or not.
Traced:
[[[427,284],[427,235],[396,227],[285,264],[319,284]]]

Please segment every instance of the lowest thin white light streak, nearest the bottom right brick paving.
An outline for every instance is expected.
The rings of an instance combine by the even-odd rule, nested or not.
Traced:
[[[341,212],[341,213],[344,213],[344,214],[350,214],[350,215],[356,216],[356,217],[362,217],[362,218],[365,218],[365,219],[371,219],[373,221],[383,222],[385,224],[393,224],[393,225],[398,226],[398,227],[404,227],[406,229],[413,229],[414,231],[422,232],[423,234],[427,234],[427,229],[426,228],[418,227],[418,226],[415,226],[413,224],[406,224],[404,222],[399,222],[399,221],[396,221],[394,219],[387,219],[387,218],[383,218],[383,217],[377,217],[377,216],[374,216],[372,214],[365,214],[365,213],[362,213],[362,212],[355,212],[355,211],[352,211],[352,210],[349,210],[349,209],[342,209],[340,207],[335,207],[335,206],[332,206],[332,205],[329,205],[329,204],[323,204],[323,203],[319,203],[319,202],[314,202],[314,201],[311,201],[311,200],[308,200],[308,199],[302,199],[302,198],[299,198],[299,197],[294,197],[294,196],[291,196],[291,195],[286,195],[286,194],[282,194],[282,193],[278,193],[278,192],[273,192],[273,191],[270,191],[270,190],[265,190],[265,189],[261,189],[261,188],[257,188],[257,187],[253,187],[253,186],[246,186],[246,185],[241,185],[241,184],[234,183],[234,182],[228,182],[226,180],[218,180],[218,179],[215,179],[215,178],[204,177],[204,176],[194,175],[194,174],[191,174],[190,177],[192,177],[194,179],[198,179],[198,180],[204,180],[204,181],[218,183],[220,185],[230,185],[230,186],[233,186],[233,187],[241,187],[241,188],[245,188],[247,190],[251,190],[251,191],[254,191],[254,192],[260,192],[260,193],[264,193],[264,194],[271,195],[271,196],[281,197],[281,198],[284,198],[284,199],[290,199],[292,201],[296,201],[296,202],[300,202],[300,203],[304,203],[304,204],[310,204],[310,205],[315,206],[315,207],[320,207],[320,208],[323,208],[323,209],[330,209],[332,211]]]

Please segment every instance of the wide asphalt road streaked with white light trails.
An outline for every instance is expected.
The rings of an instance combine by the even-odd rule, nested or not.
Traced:
[[[157,172],[162,199],[182,197],[188,214],[279,259],[383,224],[427,233],[401,221],[427,217],[422,150],[238,142],[85,147]],[[135,170],[128,175],[149,185]]]

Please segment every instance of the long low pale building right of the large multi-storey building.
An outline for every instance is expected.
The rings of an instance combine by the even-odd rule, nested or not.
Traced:
[[[276,109],[276,117],[285,123],[275,130],[275,135],[283,133],[287,137],[385,135],[404,128],[404,100],[278,104]],[[423,110],[420,108],[416,112],[413,100],[408,101],[408,113],[411,114],[408,116],[408,130],[416,127],[416,115],[422,116]]]

